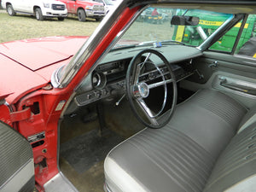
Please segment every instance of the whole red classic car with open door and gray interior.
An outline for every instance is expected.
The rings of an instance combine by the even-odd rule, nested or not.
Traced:
[[[137,22],[156,8],[168,22]],[[0,191],[256,189],[250,15],[254,1],[124,0],[90,37],[0,44]],[[201,44],[172,39],[203,22],[218,27]]]

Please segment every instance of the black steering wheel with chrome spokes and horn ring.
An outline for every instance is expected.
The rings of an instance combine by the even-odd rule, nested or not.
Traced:
[[[157,64],[156,60],[160,62]],[[169,65],[166,57],[159,51],[144,49],[132,58],[126,73],[126,95],[131,110],[137,119],[149,128],[157,129],[166,125],[172,118],[176,107],[177,84]],[[167,84],[170,83],[172,83],[172,107],[166,109]],[[145,100],[150,95],[150,90],[160,86],[163,87],[164,97],[160,110],[155,112],[148,108]]]

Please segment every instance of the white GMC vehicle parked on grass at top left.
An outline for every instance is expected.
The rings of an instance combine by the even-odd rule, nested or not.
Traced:
[[[2,7],[11,16],[16,13],[35,15],[37,20],[44,20],[46,17],[64,20],[67,17],[65,3],[55,0],[2,0]]]

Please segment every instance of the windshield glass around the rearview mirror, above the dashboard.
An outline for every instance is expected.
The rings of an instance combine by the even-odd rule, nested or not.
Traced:
[[[173,15],[199,17],[199,24],[171,25]],[[148,8],[137,17],[113,49],[155,43],[199,46],[230,16],[232,15],[199,9]]]

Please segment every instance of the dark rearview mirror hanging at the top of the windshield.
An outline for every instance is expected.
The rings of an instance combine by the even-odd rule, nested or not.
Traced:
[[[199,17],[174,15],[172,16],[171,24],[177,26],[197,26],[199,24]]]

